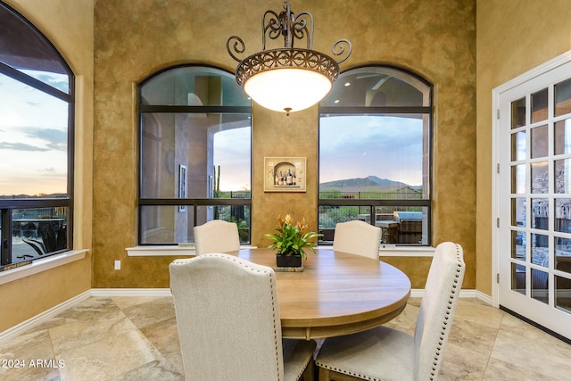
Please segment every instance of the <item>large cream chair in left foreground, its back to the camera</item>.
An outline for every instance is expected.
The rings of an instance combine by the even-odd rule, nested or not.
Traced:
[[[276,274],[210,253],[170,263],[187,380],[313,380],[313,340],[282,340]]]

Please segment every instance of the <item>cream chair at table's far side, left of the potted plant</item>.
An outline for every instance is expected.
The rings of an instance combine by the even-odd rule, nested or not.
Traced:
[[[240,250],[238,226],[222,219],[212,219],[194,227],[194,244],[196,255]]]

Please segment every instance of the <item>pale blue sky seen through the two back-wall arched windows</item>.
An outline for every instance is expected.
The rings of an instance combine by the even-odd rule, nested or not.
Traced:
[[[321,122],[319,182],[377,176],[422,184],[423,122],[413,118],[343,116]],[[214,137],[220,190],[250,189],[250,131],[237,128]]]

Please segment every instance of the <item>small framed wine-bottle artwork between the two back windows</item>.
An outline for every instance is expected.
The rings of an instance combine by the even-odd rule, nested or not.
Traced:
[[[304,157],[265,157],[264,192],[305,192]]]

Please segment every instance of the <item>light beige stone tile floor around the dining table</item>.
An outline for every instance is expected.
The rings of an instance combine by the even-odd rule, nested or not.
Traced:
[[[388,325],[413,332],[420,299]],[[568,380],[571,345],[459,299],[441,380]],[[0,380],[182,380],[170,297],[92,297],[0,344]],[[22,365],[24,368],[14,368]]]

